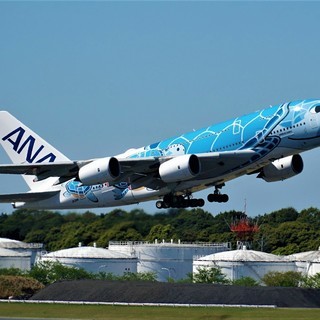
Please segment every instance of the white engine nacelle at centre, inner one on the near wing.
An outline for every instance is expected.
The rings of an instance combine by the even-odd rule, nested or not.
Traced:
[[[164,182],[185,181],[200,173],[200,161],[194,154],[185,154],[162,163],[159,175]]]

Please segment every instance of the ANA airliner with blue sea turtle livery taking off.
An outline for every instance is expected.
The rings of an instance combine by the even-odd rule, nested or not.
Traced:
[[[282,103],[226,122],[129,149],[72,161],[7,111],[0,141],[30,190],[2,194],[14,208],[82,209],[156,201],[158,209],[202,207],[193,194],[211,188],[209,202],[227,202],[225,184],[255,174],[267,182],[303,171],[300,153],[320,145],[320,100]]]

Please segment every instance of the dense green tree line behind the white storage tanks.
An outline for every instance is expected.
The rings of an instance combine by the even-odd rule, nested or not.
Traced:
[[[43,243],[48,251],[83,245],[107,247],[109,241],[231,242],[237,235],[230,225],[242,212],[213,216],[203,209],[170,209],[147,214],[144,210],[114,209],[106,214],[18,209],[0,215],[0,237]],[[320,210],[300,212],[284,208],[251,219],[259,226],[252,236],[252,249],[274,254],[317,250],[320,246]]]

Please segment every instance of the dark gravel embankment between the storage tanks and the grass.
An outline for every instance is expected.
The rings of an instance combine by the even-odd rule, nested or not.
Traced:
[[[277,287],[238,287],[211,284],[77,280],[56,282],[31,300],[276,305],[320,308],[320,290]]]

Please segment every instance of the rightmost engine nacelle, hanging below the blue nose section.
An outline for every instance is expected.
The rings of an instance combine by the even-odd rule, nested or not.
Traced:
[[[303,160],[299,154],[275,160],[265,166],[258,178],[267,182],[281,181],[291,178],[303,170]]]

